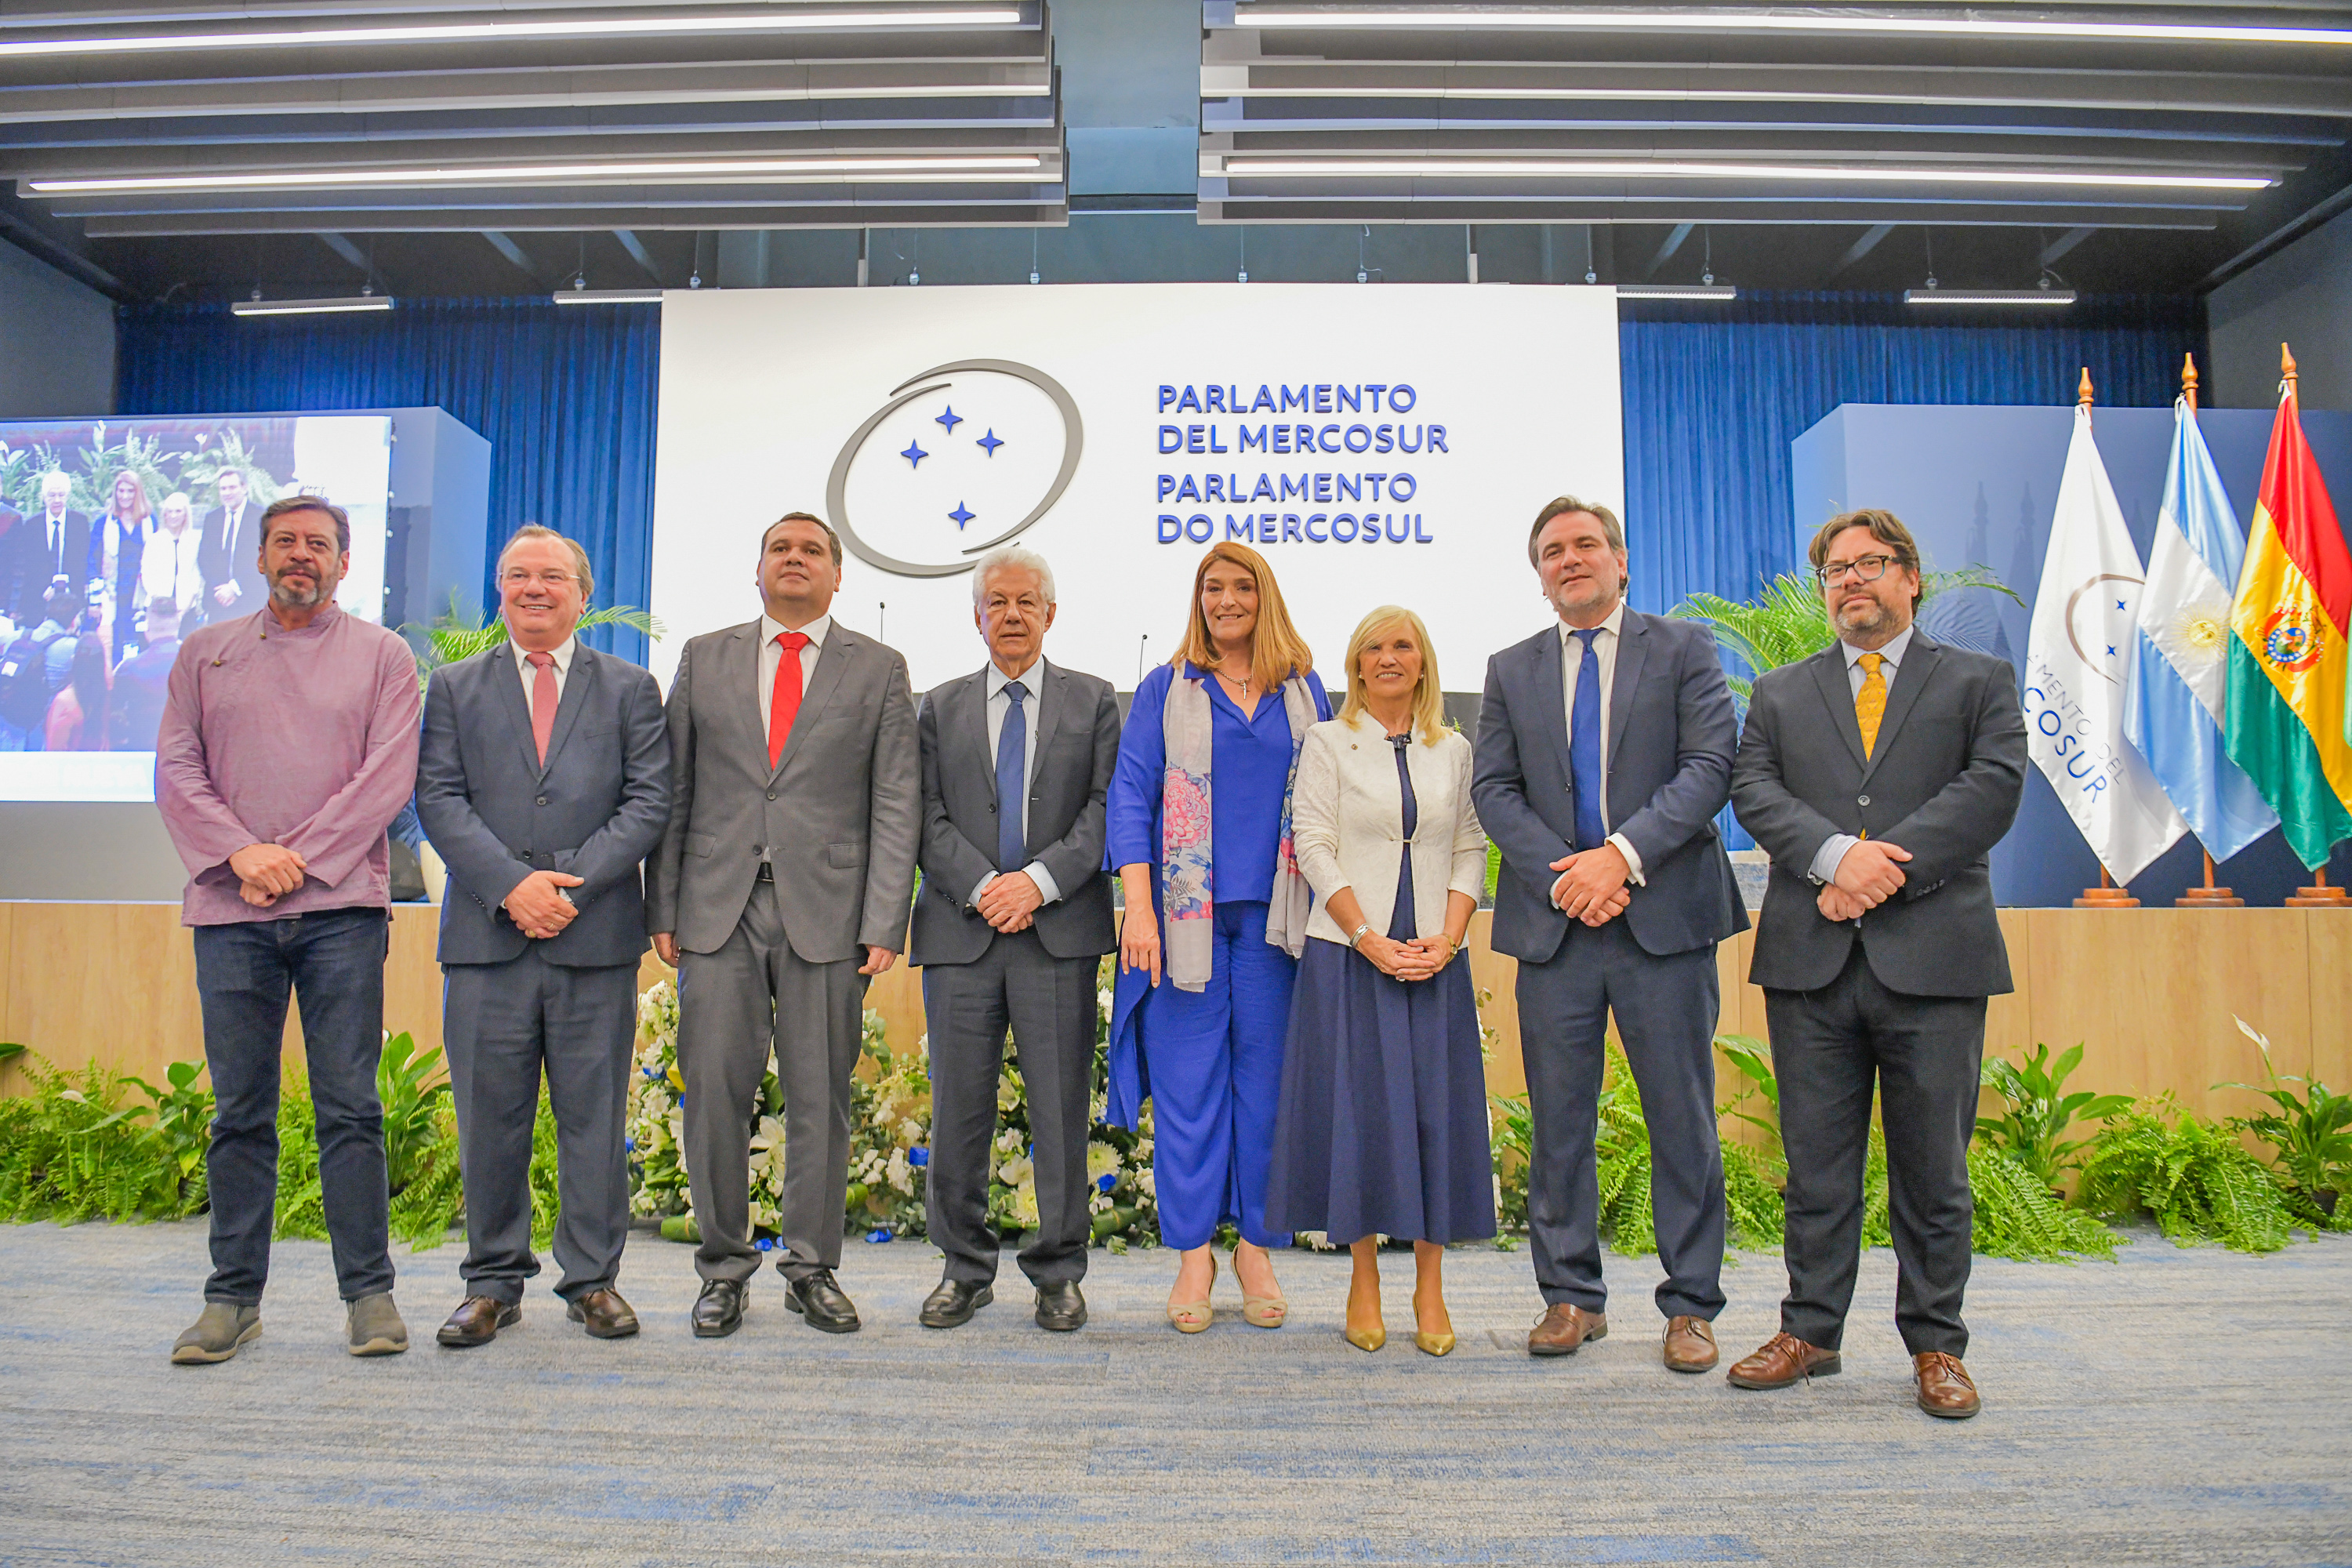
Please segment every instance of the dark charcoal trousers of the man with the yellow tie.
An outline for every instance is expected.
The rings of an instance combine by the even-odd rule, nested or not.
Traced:
[[[1870,919],[1863,919],[1867,929]],[[1867,938],[1865,938],[1867,940]],[[1870,969],[1863,940],[1816,992],[1764,992],[1780,1143],[1788,1147],[1788,1300],[1780,1328],[1837,1349],[1863,1255],[1870,1095],[1886,1126],[1886,1225],[1896,1328],[1910,1354],[1969,1354],[1976,1199],[1969,1138],[1985,1063],[1983,997],[1907,997]]]

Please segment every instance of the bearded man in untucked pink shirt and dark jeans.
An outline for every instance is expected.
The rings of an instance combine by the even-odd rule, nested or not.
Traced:
[[[191,632],[155,736],[155,806],[188,865],[214,1124],[212,1279],[172,1359],[261,1333],[278,1197],[278,1058],[301,1001],[318,1166],[350,1354],[409,1347],[393,1307],[383,1105],[383,830],[416,788],[421,698],[397,635],[334,602],[350,520],[315,496],[261,515],[268,602]]]

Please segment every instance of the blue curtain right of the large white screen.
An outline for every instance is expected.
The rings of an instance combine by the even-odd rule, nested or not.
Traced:
[[[1635,609],[1745,599],[1799,571],[1790,442],[1842,402],[2171,407],[2180,355],[2206,362],[2201,299],[2084,299],[1969,322],[1889,294],[1755,294],[1618,308],[1625,545]],[[2009,317],[2025,313],[2009,310]]]

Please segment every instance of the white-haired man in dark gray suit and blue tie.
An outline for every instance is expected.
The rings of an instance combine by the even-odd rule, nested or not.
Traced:
[[[946,1279],[924,1328],[955,1328],[995,1298],[988,1229],[997,1072],[1011,1027],[1028,1084],[1037,1229],[1021,1272],[1037,1326],[1080,1328],[1091,1215],[1096,961],[1117,945],[1103,875],[1103,802],[1120,759],[1110,682],[1049,665],[1054,569],[1004,545],[971,571],[988,665],[922,703],[922,898],[915,945],[931,1020],[931,1241]]]

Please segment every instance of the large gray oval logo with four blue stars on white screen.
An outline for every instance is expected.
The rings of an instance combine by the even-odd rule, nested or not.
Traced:
[[[955,576],[1061,501],[1082,447],[1077,402],[1042,369],[955,360],[901,381],[842,442],[826,510],[866,564]]]

